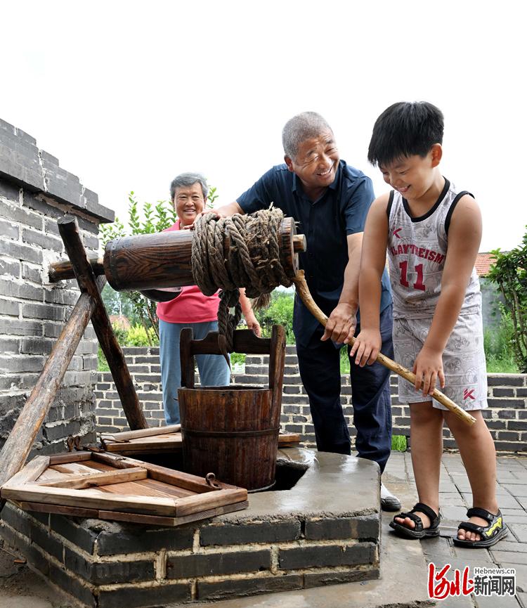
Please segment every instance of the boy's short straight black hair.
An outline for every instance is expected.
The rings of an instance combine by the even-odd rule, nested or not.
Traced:
[[[399,101],[375,121],[367,160],[375,167],[415,154],[424,157],[434,143],[443,143],[443,112],[427,101]]]

